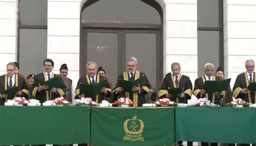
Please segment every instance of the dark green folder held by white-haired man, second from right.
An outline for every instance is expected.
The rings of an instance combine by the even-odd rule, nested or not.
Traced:
[[[220,81],[205,81],[204,90],[206,93],[222,92],[229,89],[231,78]]]

